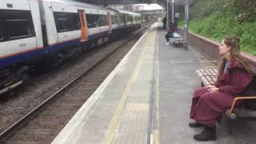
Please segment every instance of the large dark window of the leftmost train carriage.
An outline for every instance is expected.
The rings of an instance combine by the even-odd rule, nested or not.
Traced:
[[[32,15],[28,10],[2,10],[5,41],[34,37]]]

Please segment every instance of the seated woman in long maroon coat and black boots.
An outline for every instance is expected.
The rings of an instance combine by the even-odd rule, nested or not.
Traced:
[[[217,82],[195,90],[192,99],[190,118],[195,122],[190,122],[189,126],[205,128],[201,134],[194,135],[198,141],[216,140],[218,116],[231,107],[235,96],[242,94],[254,75],[240,54],[238,37],[225,38],[219,46],[219,54],[222,60]]]

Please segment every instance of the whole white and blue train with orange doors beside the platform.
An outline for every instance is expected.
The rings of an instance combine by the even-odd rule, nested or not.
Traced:
[[[1,0],[0,94],[26,82],[38,62],[58,65],[141,24],[141,14],[84,2]]]

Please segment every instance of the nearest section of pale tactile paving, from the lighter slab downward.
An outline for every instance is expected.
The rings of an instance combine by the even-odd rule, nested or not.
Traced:
[[[114,144],[146,143],[148,103],[130,103],[126,106],[114,138]]]

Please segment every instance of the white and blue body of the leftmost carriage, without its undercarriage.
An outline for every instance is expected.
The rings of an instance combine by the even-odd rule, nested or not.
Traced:
[[[0,2],[0,69],[8,62],[22,62],[42,54],[42,30],[38,2]],[[27,54],[29,53],[29,54]]]

